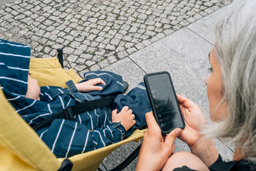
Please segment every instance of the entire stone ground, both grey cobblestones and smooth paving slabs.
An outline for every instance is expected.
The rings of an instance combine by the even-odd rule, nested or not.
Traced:
[[[195,101],[209,121],[204,80],[214,26],[232,0],[63,1],[4,0],[0,2],[0,38],[31,46],[31,56],[56,56],[64,48],[65,68],[81,76],[107,70],[135,87],[145,73],[169,71],[177,93]],[[234,147],[216,138],[225,160]],[[100,165],[109,170],[139,143],[118,147]],[[189,151],[177,140],[176,151]],[[136,160],[125,170],[134,170]]]

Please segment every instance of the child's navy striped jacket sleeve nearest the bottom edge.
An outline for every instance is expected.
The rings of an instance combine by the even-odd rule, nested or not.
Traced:
[[[49,128],[38,130],[38,135],[57,157],[65,158],[120,142],[125,136],[122,127],[113,123],[92,130],[90,124],[54,119]]]

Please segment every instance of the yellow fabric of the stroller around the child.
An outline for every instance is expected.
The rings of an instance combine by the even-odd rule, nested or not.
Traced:
[[[31,59],[29,73],[40,86],[56,85],[65,87],[65,82],[75,83],[81,77],[71,69],[63,70],[56,57]],[[15,112],[0,90],[0,170],[58,170],[64,158],[56,158],[33,129]],[[100,163],[116,147],[131,141],[138,141],[145,130],[136,130],[122,142],[77,154],[68,158],[72,170],[97,170]]]

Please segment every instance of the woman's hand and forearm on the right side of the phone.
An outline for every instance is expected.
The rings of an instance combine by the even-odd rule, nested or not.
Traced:
[[[177,98],[186,124],[179,138],[186,142],[191,152],[209,167],[218,159],[218,151],[212,138],[206,139],[200,134],[202,126],[206,124],[204,115],[193,101],[178,94]]]

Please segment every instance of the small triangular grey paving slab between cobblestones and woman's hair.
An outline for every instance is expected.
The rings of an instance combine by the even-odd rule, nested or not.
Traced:
[[[221,8],[220,10],[207,15],[206,17],[197,20],[193,24],[188,26],[188,29],[195,32],[205,40],[209,41],[210,43],[214,44],[215,41],[215,27],[218,22],[223,18],[223,15],[227,13],[228,5]]]

